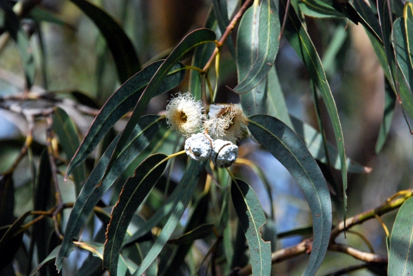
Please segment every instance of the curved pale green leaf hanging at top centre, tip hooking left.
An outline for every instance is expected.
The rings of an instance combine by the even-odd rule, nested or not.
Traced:
[[[239,94],[248,92],[264,80],[274,65],[275,56],[277,56],[279,32],[279,19],[274,1],[262,1],[260,6],[260,24],[258,26],[258,51],[254,59],[255,62],[248,74],[244,78],[240,78],[242,81],[234,88],[235,92]],[[237,53],[237,56],[240,55],[242,53]]]

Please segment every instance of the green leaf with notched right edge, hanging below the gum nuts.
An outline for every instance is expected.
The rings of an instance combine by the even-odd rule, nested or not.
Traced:
[[[266,218],[255,191],[244,181],[231,184],[231,196],[248,242],[253,275],[271,275],[271,243],[262,240],[260,230]]]

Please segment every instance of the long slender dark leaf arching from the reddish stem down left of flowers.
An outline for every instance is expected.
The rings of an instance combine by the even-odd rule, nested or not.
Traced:
[[[136,103],[134,112],[132,112],[131,118],[129,118],[125,129],[120,135],[118,145],[116,145],[114,154],[107,166],[107,170],[109,170],[114,164],[114,160],[116,160],[117,156],[120,154],[120,151],[123,149],[125,142],[131,135],[131,131],[134,129],[134,126],[138,123],[140,116],[142,116],[145,111],[149,100],[155,95],[155,92],[160,87],[162,81],[166,78],[167,73],[171,71],[173,65],[182,59],[182,56],[193,50],[193,48],[213,41],[215,41],[215,32],[209,29],[201,28],[187,34],[187,36],[182,39],[175,49],[173,49],[167,59],[165,59],[162,65],[160,65],[158,71],[156,71],[156,73],[152,76],[151,81],[145,88],[142,96],[140,96],[138,103]]]

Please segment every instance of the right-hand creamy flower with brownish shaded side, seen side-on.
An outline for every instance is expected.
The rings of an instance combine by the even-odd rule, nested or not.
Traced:
[[[213,139],[235,143],[246,131],[248,119],[240,105],[211,105],[208,115],[209,120],[204,123],[204,128],[208,129],[208,134]]]

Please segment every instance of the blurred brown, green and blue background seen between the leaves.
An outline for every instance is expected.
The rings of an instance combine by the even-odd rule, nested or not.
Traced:
[[[1,0],[4,1],[4,0]],[[68,98],[76,103],[81,103],[91,110],[98,110],[106,102],[107,98],[121,85],[116,64],[109,51],[108,44],[99,32],[94,22],[87,17],[74,3],[64,0],[22,1],[14,3],[14,11],[18,13],[19,4],[23,6],[36,4],[36,7],[28,14],[22,15],[23,30],[28,34],[31,54],[34,59],[34,81],[31,92],[54,93],[58,98]],[[233,3],[235,1],[229,1]],[[9,4],[12,2],[8,2]],[[202,28],[207,19],[211,3],[209,1],[193,0],[100,0],[93,1],[97,6],[110,14],[120,26],[134,45],[138,59],[143,67],[151,61],[165,58],[171,49],[191,30]],[[4,23],[5,12],[1,12]],[[394,118],[388,138],[385,140],[383,149],[375,151],[377,137],[381,120],[383,118],[383,105],[385,100],[385,78],[383,69],[374,53],[372,43],[368,39],[366,31],[361,25],[349,23],[346,19],[328,19],[306,17],[306,28],[310,34],[324,69],[330,81],[332,94],[335,97],[343,136],[346,142],[347,156],[367,167],[370,173],[348,173],[348,217],[379,206],[386,198],[403,189],[409,189],[413,178],[412,150],[413,140],[402,114],[399,104],[395,107]],[[0,96],[13,96],[18,93],[27,92],[29,87],[25,82],[25,74],[17,50],[16,43],[5,32],[4,25],[0,36]],[[236,29],[232,34],[235,39]],[[218,88],[218,103],[236,103],[239,96],[229,92],[225,86],[235,87],[237,85],[237,72],[233,58],[226,47],[222,48],[220,56],[221,72],[220,87]],[[184,64],[189,64],[190,59],[184,59]],[[294,50],[282,37],[279,53],[275,67],[278,72],[279,82],[282,86],[288,112],[304,122],[317,127],[317,114],[313,104],[310,78],[306,67],[301,63]],[[186,75],[189,78],[189,74]],[[153,98],[147,107],[147,114],[158,114],[165,110],[167,100],[171,94],[188,91],[188,79],[169,92]],[[326,137],[335,144],[335,137],[328,119],[323,101],[317,100],[321,109],[321,118],[326,127]],[[38,103],[42,106],[42,103]],[[61,105],[63,109],[74,120],[80,137],[83,137],[93,120],[93,113],[82,114],[78,109]],[[410,125],[413,123],[407,118]],[[35,209],[33,204],[34,183],[38,183],[39,176],[36,171],[41,171],[39,162],[44,158],[43,149],[46,145],[45,120],[35,120],[32,145],[29,153],[25,154],[12,173],[12,184],[3,182],[1,187],[1,208],[6,210],[7,204],[14,200],[14,208],[11,213],[1,213],[2,222],[10,224],[26,211]],[[87,174],[92,171],[97,160],[93,156],[100,156],[105,147],[109,145],[115,134],[125,126],[125,120],[120,120],[109,132],[103,143],[99,145],[97,152],[92,154],[86,161]],[[15,114],[6,109],[0,109],[0,173],[8,171],[21,152],[25,142],[25,136],[30,129],[28,123],[21,114]],[[166,131],[165,129],[163,131]],[[155,141],[158,140],[157,138]],[[177,147],[178,138],[171,136],[162,145],[158,152],[172,153]],[[182,142],[182,140],[180,141]],[[256,191],[258,198],[266,213],[275,210],[274,222],[278,233],[310,225],[310,211],[304,195],[295,184],[293,178],[282,165],[271,156],[260,145],[247,139],[240,145],[240,157],[252,160],[262,171],[271,187],[273,206],[268,200],[262,178],[250,169],[244,169],[240,165],[234,167],[233,173],[250,183]],[[46,158],[47,159],[47,158]],[[118,183],[125,182],[134,168],[142,160],[135,160],[129,169],[123,173]],[[178,158],[172,165],[171,181],[178,182],[184,170],[185,158]],[[59,169],[65,171],[62,161]],[[341,221],[341,173],[330,169],[328,183],[333,204],[333,224]],[[2,181],[5,181],[4,178]],[[5,184],[6,183],[6,184]],[[59,175],[59,184],[63,202],[74,202],[76,195],[73,182],[63,182],[63,176]],[[158,183],[159,189],[151,193],[147,205],[141,210],[142,216],[149,217],[162,205],[162,193],[167,185],[167,179],[162,178]],[[14,189],[14,199],[5,198],[7,189]],[[120,187],[115,186],[112,193],[118,194]],[[211,189],[218,189],[213,185]],[[53,194],[47,195],[53,198]],[[47,198],[45,195],[45,198]],[[213,195],[211,195],[213,197]],[[103,198],[107,205],[113,205],[117,196],[109,193]],[[217,202],[217,199],[212,199]],[[103,204],[103,205],[105,205]],[[12,205],[13,206],[13,205]],[[50,207],[50,206],[49,206]],[[213,206],[211,207],[213,208]],[[232,206],[231,206],[232,208]],[[47,210],[47,209],[44,209]],[[68,211],[65,210],[63,218],[67,219]],[[234,211],[231,211],[234,215]],[[8,216],[8,217],[6,217]],[[188,214],[184,215],[185,220]],[[383,221],[392,228],[395,212],[383,216]],[[83,232],[83,239],[91,239],[96,233],[100,221],[91,218],[88,222],[92,225],[89,231]],[[3,224],[3,225],[6,225]],[[2,226],[3,226],[2,225]],[[51,224],[47,227],[51,227]],[[233,222],[230,227],[236,232],[237,223]],[[377,220],[370,220],[355,230],[364,235],[377,254],[386,255],[386,238],[381,224]],[[45,235],[51,240],[50,244],[59,241],[53,235]],[[235,235],[235,234],[234,234]],[[52,241],[55,239],[54,241]],[[300,235],[278,240],[278,248],[292,246],[302,240]],[[344,240],[341,240],[344,241]],[[360,237],[347,234],[348,244],[361,244]],[[199,250],[204,254],[207,251],[207,242],[197,244]],[[243,244],[239,244],[243,246]],[[17,275],[25,275],[34,266],[39,264],[45,256],[30,257],[28,252],[30,246],[29,236],[23,237],[23,245],[19,247],[16,262],[13,262],[14,271]],[[54,248],[54,247],[50,247]],[[233,248],[236,254],[237,248]],[[368,251],[368,248],[363,248]],[[1,255],[5,254],[1,252]],[[83,260],[88,253],[76,249],[63,269],[63,275],[74,275],[78,269],[86,269]],[[202,257],[193,255],[194,259]],[[299,275],[306,265],[306,256],[296,257],[277,264],[274,275]],[[31,261],[28,263],[28,260]],[[23,261],[24,260],[24,261]],[[242,257],[240,256],[242,265]],[[340,253],[328,252],[324,263],[319,270],[319,275],[325,275],[337,268],[359,264],[359,261],[350,256]],[[50,273],[54,274],[54,266],[50,266]],[[7,271],[7,270],[6,270]],[[9,273],[11,270],[8,270]],[[383,270],[385,271],[385,270]],[[382,272],[383,272],[382,271]],[[10,275],[3,271],[3,275]],[[81,275],[81,274],[78,274]],[[86,274],[82,274],[86,275]],[[371,270],[359,270],[351,275],[375,275]]]

